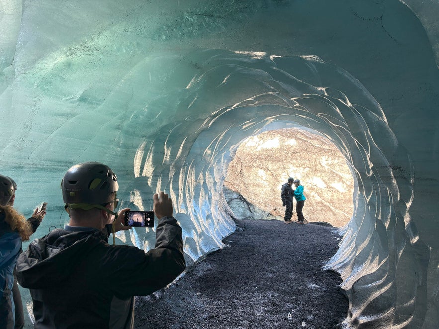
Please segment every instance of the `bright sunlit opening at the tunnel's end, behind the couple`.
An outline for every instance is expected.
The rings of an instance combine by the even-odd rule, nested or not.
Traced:
[[[288,177],[304,185],[309,222],[343,227],[353,214],[354,178],[327,138],[300,128],[271,130],[242,141],[229,164],[223,192],[239,219],[283,220],[280,189]],[[296,219],[294,201],[293,219]]]

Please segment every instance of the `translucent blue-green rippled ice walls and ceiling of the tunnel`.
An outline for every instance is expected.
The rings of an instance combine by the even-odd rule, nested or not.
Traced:
[[[172,197],[188,260],[235,230],[227,167],[248,137],[300,128],[355,178],[325,268],[345,328],[439,324],[437,1],[0,0],[0,170],[36,232],[66,220],[59,182],[101,161],[122,206]],[[61,214],[61,215],[60,215]],[[147,231],[121,243],[148,249]]]

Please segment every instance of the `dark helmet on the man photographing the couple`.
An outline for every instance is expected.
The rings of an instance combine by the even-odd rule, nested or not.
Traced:
[[[66,204],[100,205],[108,202],[111,193],[119,189],[117,177],[107,166],[84,162],[67,170],[61,181]]]

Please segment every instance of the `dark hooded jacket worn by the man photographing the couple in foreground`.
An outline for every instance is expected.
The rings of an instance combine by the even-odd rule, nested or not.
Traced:
[[[20,255],[18,282],[30,288],[35,328],[108,328],[113,296],[149,295],[185,269],[181,227],[172,217],[158,221],[147,253],[109,245],[104,231],[56,229]]]

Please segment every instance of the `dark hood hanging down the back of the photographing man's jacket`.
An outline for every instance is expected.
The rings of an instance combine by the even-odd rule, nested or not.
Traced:
[[[29,244],[17,262],[17,279],[24,288],[44,289],[59,284],[70,276],[82,256],[105,238],[103,232],[70,232],[56,229]]]

